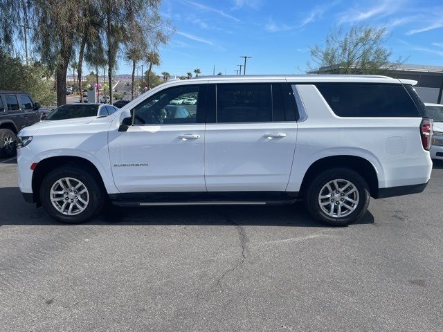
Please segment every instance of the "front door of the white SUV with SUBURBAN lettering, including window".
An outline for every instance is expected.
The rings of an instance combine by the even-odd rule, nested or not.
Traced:
[[[197,104],[177,105],[177,98]],[[174,100],[174,101],[173,101]],[[132,109],[127,131],[109,131],[109,156],[120,192],[206,192],[206,86],[164,89]]]

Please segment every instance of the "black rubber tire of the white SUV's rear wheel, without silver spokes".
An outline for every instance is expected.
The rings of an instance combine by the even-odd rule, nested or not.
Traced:
[[[323,211],[322,207],[320,207],[320,191],[322,194],[327,194],[329,190],[327,190],[325,186],[327,186],[327,183],[330,183],[331,181],[337,179],[349,181],[351,185],[350,187],[348,187],[350,189],[345,189],[343,192],[335,190],[336,188],[334,188],[334,186],[329,186],[332,187],[332,192],[334,192],[334,196],[330,196],[330,199],[323,198],[322,203],[328,204],[325,205],[325,209],[331,210],[330,213],[332,213],[332,215],[335,214],[335,216],[331,216]],[[344,181],[341,183],[345,184]],[[345,197],[343,197],[348,197],[347,192],[351,192],[353,186],[355,187],[356,192],[358,192],[358,199],[356,199],[358,203],[355,204],[350,203],[349,201],[347,201],[347,199],[345,200]],[[338,181],[338,187],[340,187],[340,181]],[[343,187],[344,185],[341,188],[343,189]],[[356,195],[356,192],[353,190],[353,194],[349,195]],[[354,208],[354,210],[345,208],[343,205],[343,209],[345,210],[345,212],[349,212],[349,214],[346,214],[342,217],[337,216],[338,206],[334,207],[332,204],[332,200],[334,200],[334,204],[336,205],[341,205],[343,203],[346,205],[352,205],[352,208]],[[359,220],[365,214],[366,210],[368,210],[370,201],[369,186],[368,183],[366,183],[365,179],[352,169],[329,169],[325,172],[321,172],[315,178],[313,178],[312,181],[310,181],[309,185],[307,186],[307,191],[305,192],[304,201],[306,208],[311,216],[313,216],[318,221],[327,223],[328,225],[345,226]],[[328,201],[331,201],[331,203],[328,203]],[[341,203],[342,201],[343,203]],[[342,209],[342,206],[340,208]]]

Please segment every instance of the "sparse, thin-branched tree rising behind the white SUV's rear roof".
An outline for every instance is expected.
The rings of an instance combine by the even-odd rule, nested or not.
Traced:
[[[397,66],[390,62],[392,52],[386,48],[388,36],[386,28],[366,25],[354,25],[347,32],[343,28],[332,30],[326,37],[325,46],[316,45],[310,48],[311,59],[319,70],[308,67],[311,71],[332,74],[378,74],[386,69]]]

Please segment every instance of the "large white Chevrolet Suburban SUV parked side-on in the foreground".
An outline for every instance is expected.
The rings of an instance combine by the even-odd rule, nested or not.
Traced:
[[[41,122],[17,143],[19,187],[64,223],[116,205],[286,204],[332,225],[422,192],[432,121],[415,81],[383,76],[198,77],[106,117]],[[192,95],[195,104],[175,105]]]

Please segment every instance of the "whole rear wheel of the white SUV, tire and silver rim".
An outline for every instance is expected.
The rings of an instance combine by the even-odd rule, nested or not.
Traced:
[[[359,220],[370,201],[368,183],[352,169],[329,169],[307,188],[305,205],[315,219],[344,226]]]

